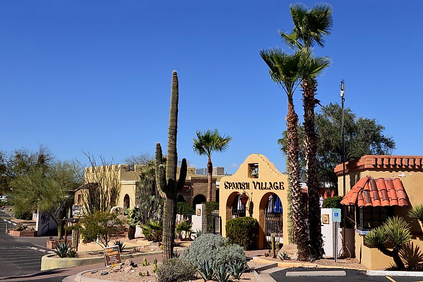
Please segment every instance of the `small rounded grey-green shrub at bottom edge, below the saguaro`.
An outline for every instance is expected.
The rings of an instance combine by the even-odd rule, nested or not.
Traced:
[[[157,270],[158,282],[179,282],[195,279],[197,268],[189,261],[172,257],[163,260]]]

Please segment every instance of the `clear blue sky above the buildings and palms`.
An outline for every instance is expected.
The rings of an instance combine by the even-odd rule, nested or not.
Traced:
[[[213,164],[234,172],[250,153],[285,171],[277,139],[286,95],[261,48],[291,30],[291,1],[1,1],[0,149],[48,145],[59,159],[83,150],[121,162],[166,149],[172,70],[180,82],[178,155],[197,167],[198,129],[233,136]],[[292,2],[294,3],[294,2]],[[304,1],[309,7],[314,1]],[[395,154],[422,155],[423,1],[328,1],[332,35],[318,55],[322,104],[376,118]],[[296,110],[302,115],[300,93]]]

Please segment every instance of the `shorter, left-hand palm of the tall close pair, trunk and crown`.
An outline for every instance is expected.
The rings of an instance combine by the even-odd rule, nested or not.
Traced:
[[[305,206],[301,200],[300,170],[298,160],[298,115],[294,109],[293,93],[299,83],[304,54],[299,51],[287,54],[279,48],[261,50],[260,55],[270,68],[270,77],[282,86],[288,96],[286,131],[288,137],[289,197],[291,200],[292,225],[298,247],[298,259],[310,257],[310,237],[307,233]]]

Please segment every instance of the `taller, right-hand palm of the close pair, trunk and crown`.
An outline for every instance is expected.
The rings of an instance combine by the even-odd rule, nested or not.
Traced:
[[[308,220],[309,234],[313,251],[311,259],[321,258],[324,254],[321,234],[319,183],[317,180],[317,135],[314,122],[314,107],[319,100],[315,98],[317,91],[316,77],[330,64],[326,57],[314,58],[312,47],[324,46],[325,35],[330,34],[333,24],[332,7],[327,4],[315,4],[307,9],[304,4],[290,6],[294,28],[291,33],[280,32],[282,39],[294,50],[303,51],[309,59],[301,71],[301,88],[304,106],[304,147],[308,187]]]

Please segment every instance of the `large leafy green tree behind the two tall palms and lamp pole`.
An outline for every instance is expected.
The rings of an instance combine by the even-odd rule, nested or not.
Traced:
[[[338,178],[333,171],[342,162],[342,108],[337,103],[322,106],[316,113],[317,133],[317,179],[336,187]],[[299,128],[299,142],[303,143],[303,127]],[[395,148],[392,137],[383,133],[385,127],[376,120],[357,117],[349,107],[344,108],[345,160],[351,160],[365,154],[391,154]],[[281,150],[288,153],[287,131],[278,140]],[[300,146],[301,168],[305,168],[304,147]],[[304,177],[305,178],[305,177]]]

